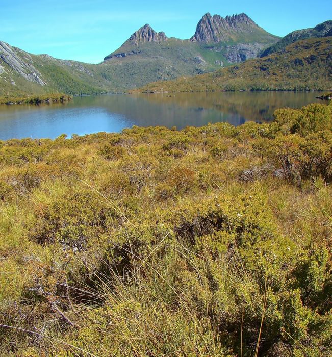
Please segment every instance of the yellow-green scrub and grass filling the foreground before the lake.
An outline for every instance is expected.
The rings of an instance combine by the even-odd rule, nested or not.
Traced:
[[[0,142],[0,354],[330,355],[331,129]]]

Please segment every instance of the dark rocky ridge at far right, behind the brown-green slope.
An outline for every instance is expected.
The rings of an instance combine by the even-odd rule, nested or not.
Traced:
[[[283,39],[281,39],[273,46],[266,48],[260,57],[269,56],[272,53],[282,50],[289,44],[299,40],[305,40],[311,37],[329,37],[329,36],[332,36],[332,20],[320,23],[316,27],[311,29],[297,30],[291,32],[290,34],[286,35]]]

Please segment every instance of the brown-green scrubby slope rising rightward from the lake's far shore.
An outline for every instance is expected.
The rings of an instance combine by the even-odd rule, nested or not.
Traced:
[[[329,90],[332,88],[332,37],[295,42],[268,58],[193,78],[157,82],[140,91]]]

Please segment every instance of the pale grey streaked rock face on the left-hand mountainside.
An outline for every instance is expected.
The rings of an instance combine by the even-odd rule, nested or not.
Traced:
[[[46,85],[39,71],[33,66],[33,60],[27,52],[0,41],[0,60],[24,79],[36,82],[41,86]]]

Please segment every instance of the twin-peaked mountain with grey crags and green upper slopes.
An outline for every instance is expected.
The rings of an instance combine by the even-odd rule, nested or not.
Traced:
[[[257,57],[278,39],[245,13],[225,18],[207,13],[198,22],[190,39],[168,38],[164,32],[157,33],[145,24],[104,61],[119,65],[159,57],[160,63],[165,64],[164,68],[172,68],[174,64],[176,67],[183,62],[183,74],[199,74]],[[164,79],[177,75],[172,70],[163,72],[166,72]]]

